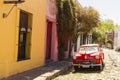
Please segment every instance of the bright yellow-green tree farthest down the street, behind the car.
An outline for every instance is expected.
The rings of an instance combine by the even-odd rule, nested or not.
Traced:
[[[99,27],[93,29],[93,42],[105,44],[105,33],[113,32],[117,28],[113,20],[107,19],[100,22]],[[97,36],[99,35],[99,36]]]

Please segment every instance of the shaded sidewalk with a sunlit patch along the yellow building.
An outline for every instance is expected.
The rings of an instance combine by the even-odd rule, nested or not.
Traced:
[[[66,72],[70,67],[70,61],[51,62],[43,67],[28,70],[0,80],[51,80]]]

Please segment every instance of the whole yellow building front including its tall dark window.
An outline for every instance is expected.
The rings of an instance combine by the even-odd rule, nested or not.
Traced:
[[[45,60],[46,0],[5,1],[0,0],[0,78],[42,66]]]

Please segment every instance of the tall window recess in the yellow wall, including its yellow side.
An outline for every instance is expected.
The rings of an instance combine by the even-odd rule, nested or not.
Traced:
[[[20,11],[18,61],[30,59],[32,14]]]

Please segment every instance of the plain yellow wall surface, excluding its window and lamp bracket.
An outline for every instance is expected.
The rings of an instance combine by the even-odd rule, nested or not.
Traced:
[[[46,0],[25,0],[3,18],[12,5],[0,0],[0,78],[44,65]],[[23,61],[17,61],[20,10],[33,15],[31,58]]]

